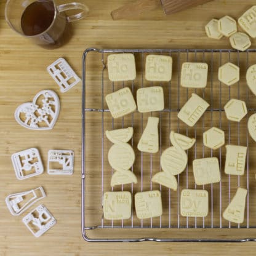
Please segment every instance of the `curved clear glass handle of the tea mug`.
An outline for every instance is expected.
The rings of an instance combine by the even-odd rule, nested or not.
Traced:
[[[69,4],[60,4],[60,6],[57,7],[59,12],[65,12],[65,10],[74,10],[79,9],[81,12],[78,14],[70,15],[66,17],[67,22],[74,22],[76,20],[80,20],[83,17],[86,17],[86,15],[89,12],[89,9],[86,5],[80,4],[79,2],[70,2]]]

